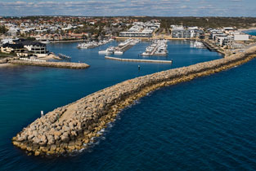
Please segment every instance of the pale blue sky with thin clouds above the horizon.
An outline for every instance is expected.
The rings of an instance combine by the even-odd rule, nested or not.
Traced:
[[[0,15],[256,17],[256,0],[0,0]]]

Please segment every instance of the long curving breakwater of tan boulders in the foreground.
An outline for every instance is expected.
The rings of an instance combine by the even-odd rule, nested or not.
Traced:
[[[244,64],[256,57],[255,52],[256,46],[223,59],[123,81],[48,112],[16,134],[12,143],[35,156],[58,156],[80,150],[94,137],[101,136],[100,130],[115,121],[121,109],[150,91]]]

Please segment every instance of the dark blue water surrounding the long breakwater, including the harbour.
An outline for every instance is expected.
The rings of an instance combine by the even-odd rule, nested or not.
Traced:
[[[169,42],[167,59],[173,65],[140,64],[138,71],[136,63],[106,60],[97,49],[77,50],[75,45],[53,44],[49,49],[91,68],[0,68],[0,169],[256,169],[256,60],[142,98],[119,114],[95,147],[78,156],[26,156],[11,145],[11,137],[40,116],[40,110],[51,111],[128,78],[221,57],[192,49],[188,42]],[[141,42],[123,57],[137,58],[145,46]]]

